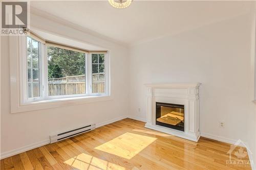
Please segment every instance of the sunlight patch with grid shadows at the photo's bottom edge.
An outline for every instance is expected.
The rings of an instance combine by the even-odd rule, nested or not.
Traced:
[[[85,153],[82,153],[73,158],[70,158],[64,163],[70,166],[73,166],[79,170],[84,170],[84,169],[125,170],[125,168],[120,165],[105,161],[103,159],[96,158],[94,156],[91,156]]]

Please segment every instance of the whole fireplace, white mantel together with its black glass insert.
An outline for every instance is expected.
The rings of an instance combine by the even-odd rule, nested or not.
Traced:
[[[145,84],[146,128],[198,141],[200,83]]]

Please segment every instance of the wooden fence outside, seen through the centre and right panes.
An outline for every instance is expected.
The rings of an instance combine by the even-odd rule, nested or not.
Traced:
[[[104,93],[104,73],[92,75],[93,93]],[[84,94],[86,93],[86,76],[67,76],[63,78],[48,79],[48,95]]]

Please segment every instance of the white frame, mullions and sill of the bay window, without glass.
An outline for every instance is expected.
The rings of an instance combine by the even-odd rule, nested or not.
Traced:
[[[54,107],[78,105],[91,102],[113,100],[110,95],[110,63],[109,51],[105,54],[105,93],[92,93],[92,64],[91,54],[86,53],[86,85],[85,94],[69,94],[48,96],[48,63],[47,46],[40,45],[41,54],[39,57],[39,98],[27,98],[27,36],[10,36],[10,76],[11,76],[11,113],[40,110]],[[95,53],[102,54],[102,53]],[[44,60],[42,60],[44,59]],[[87,83],[89,84],[89,83]],[[47,85],[44,87],[43,85]]]

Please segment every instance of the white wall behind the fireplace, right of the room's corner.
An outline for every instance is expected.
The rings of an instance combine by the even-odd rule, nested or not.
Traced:
[[[145,83],[200,82],[201,134],[241,139],[254,152],[252,19],[246,14],[132,46],[130,114],[146,119]]]

